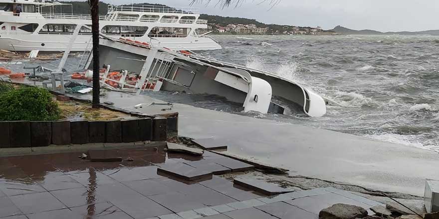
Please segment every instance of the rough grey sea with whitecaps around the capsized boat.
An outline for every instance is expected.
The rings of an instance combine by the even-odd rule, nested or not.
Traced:
[[[165,101],[303,124],[439,152],[438,36],[214,36],[202,55],[265,70],[337,104],[323,117],[240,112],[215,96],[153,93]],[[75,68],[80,58],[68,60]],[[0,63],[1,64],[1,63]],[[11,63],[22,66],[38,63]],[[53,68],[56,61],[46,65]],[[31,70],[27,70],[31,71]]]

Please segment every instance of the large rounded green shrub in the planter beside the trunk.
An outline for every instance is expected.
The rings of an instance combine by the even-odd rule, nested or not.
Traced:
[[[57,103],[43,88],[19,88],[0,94],[0,120],[48,121],[59,118]]]

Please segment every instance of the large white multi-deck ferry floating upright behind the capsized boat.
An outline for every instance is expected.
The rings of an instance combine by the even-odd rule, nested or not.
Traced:
[[[108,5],[108,13],[100,15],[99,25],[103,34],[172,50],[220,49],[213,38],[198,35],[197,29],[207,28],[207,20],[199,16],[195,8]],[[74,14],[72,4],[0,0],[0,49],[3,50],[64,51],[76,25],[91,26],[91,16]],[[89,50],[90,42],[91,30],[82,27],[71,51]]]

